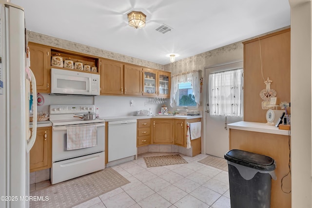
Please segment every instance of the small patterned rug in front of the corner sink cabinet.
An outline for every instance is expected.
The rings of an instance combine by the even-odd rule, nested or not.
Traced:
[[[145,160],[147,168],[188,163],[179,154],[169,154],[143,158]]]

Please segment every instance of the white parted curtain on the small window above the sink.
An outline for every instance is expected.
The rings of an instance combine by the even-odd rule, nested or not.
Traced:
[[[170,106],[174,108],[176,103],[176,93],[178,90],[178,84],[183,82],[191,82],[193,86],[193,95],[195,96],[195,102],[199,105],[200,100],[200,77],[201,71],[191,71],[183,73],[181,75],[175,75],[171,78],[171,92],[170,92]]]

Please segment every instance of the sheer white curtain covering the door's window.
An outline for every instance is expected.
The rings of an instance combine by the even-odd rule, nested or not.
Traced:
[[[209,75],[210,115],[243,116],[243,69]]]

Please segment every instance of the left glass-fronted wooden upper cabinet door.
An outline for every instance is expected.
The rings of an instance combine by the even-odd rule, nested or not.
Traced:
[[[143,69],[144,88],[143,95],[157,95],[157,71],[152,69]]]

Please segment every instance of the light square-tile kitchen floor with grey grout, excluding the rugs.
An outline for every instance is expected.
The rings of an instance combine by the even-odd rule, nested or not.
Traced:
[[[143,157],[112,168],[131,183],[84,202],[75,208],[231,208],[228,172],[198,163],[206,157],[180,154],[188,163],[147,168]]]

